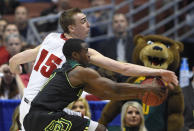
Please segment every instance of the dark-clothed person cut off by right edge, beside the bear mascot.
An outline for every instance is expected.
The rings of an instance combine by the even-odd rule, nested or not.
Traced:
[[[190,85],[182,88],[182,90],[185,104],[183,131],[194,131],[194,76],[191,78]]]

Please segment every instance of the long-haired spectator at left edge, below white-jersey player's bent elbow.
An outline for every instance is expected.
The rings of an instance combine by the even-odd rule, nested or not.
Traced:
[[[0,67],[3,76],[0,78],[0,99],[21,99],[23,87],[21,81],[10,72],[8,64]]]

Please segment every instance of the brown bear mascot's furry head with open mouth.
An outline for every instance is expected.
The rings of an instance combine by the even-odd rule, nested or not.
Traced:
[[[161,35],[136,35],[133,62],[146,67],[175,71],[183,44]]]

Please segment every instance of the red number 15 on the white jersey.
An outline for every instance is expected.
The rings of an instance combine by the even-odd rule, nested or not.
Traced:
[[[42,64],[42,62],[44,61],[44,59],[46,58],[47,55],[48,55],[48,51],[43,49],[41,52],[40,58],[34,67],[35,71],[39,70],[40,65]],[[49,78],[49,76],[52,74],[53,70],[55,70],[57,68],[57,65],[60,65],[61,62],[62,62],[62,60],[60,58],[58,58],[54,54],[51,54],[49,56],[48,60],[46,61],[45,65],[43,65],[41,67],[40,73],[44,77]]]

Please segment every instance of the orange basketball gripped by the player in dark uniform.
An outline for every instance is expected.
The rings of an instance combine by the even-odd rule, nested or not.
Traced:
[[[142,81],[141,84],[151,84],[154,80],[154,77],[146,78]],[[157,96],[154,92],[145,92],[144,96],[142,97],[142,102],[149,106],[158,106],[164,102],[167,97],[168,89],[165,86],[164,82],[160,78],[156,78],[156,82],[158,85],[162,86],[162,89],[165,90],[165,93],[162,94],[162,97]]]

